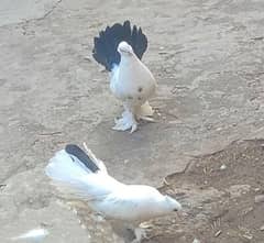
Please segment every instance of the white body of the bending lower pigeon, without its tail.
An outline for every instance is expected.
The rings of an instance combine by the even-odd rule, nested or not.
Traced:
[[[114,189],[91,208],[110,220],[143,222],[172,212],[166,198],[155,188],[143,185],[124,185]]]

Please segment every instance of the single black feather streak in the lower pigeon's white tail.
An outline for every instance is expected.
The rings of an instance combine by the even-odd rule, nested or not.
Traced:
[[[69,155],[74,155],[75,157],[77,157],[92,173],[99,170],[98,166],[89,158],[89,156],[79,146],[75,144],[67,144],[65,151]]]

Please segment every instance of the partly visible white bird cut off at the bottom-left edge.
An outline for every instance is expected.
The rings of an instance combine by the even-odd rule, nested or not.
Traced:
[[[37,228],[37,229],[33,229],[26,233],[23,233],[19,236],[15,238],[11,238],[12,241],[26,241],[26,242],[34,242],[34,243],[40,243],[42,242],[47,235],[50,234],[50,232],[44,229],[44,228]]]

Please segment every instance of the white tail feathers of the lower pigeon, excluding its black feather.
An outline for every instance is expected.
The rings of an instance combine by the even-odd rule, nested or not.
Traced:
[[[78,162],[76,159],[75,162]],[[66,190],[74,198],[98,200],[112,191],[121,184],[106,172],[91,173],[80,163],[73,163],[72,157],[62,150],[50,159],[46,175],[51,177],[61,190]]]

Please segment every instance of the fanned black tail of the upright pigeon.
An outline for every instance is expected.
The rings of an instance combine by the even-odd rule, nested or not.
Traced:
[[[118,45],[120,42],[129,43],[135,55],[141,59],[147,48],[147,38],[142,33],[141,27],[133,26],[131,29],[130,21],[123,24],[116,23],[112,26],[107,26],[105,31],[99,33],[99,37],[94,40],[94,58],[111,71],[114,64],[120,63],[120,54],[118,53]]]

